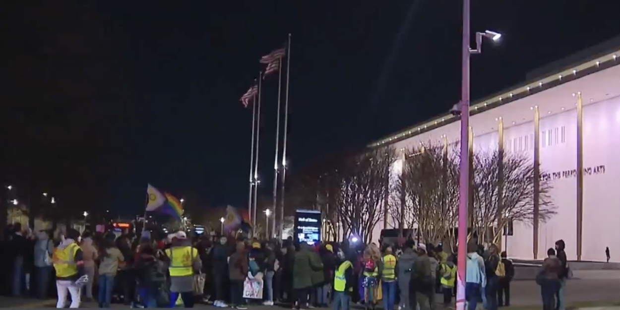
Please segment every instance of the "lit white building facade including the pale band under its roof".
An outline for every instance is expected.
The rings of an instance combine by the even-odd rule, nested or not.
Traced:
[[[580,96],[581,131],[577,112]],[[541,171],[551,179],[557,215],[540,223],[538,233],[531,223],[515,223],[513,236],[507,237],[508,255],[543,259],[547,249],[563,239],[569,260],[602,261],[609,247],[611,260],[620,262],[620,50],[472,103],[470,111],[474,151],[498,149],[501,120],[504,151],[522,153],[534,161],[534,149],[538,149]],[[534,127],[537,116],[538,131]],[[441,144],[444,137],[449,143],[457,143],[460,126],[458,117],[443,115],[370,146],[411,149],[429,141]],[[535,148],[537,134],[539,145]],[[583,149],[580,156],[579,144]],[[399,173],[402,163],[394,166],[394,173]],[[578,167],[583,171],[582,182]],[[378,226],[373,239],[378,239],[383,221]],[[397,224],[388,221],[387,226],[394,228]],[[538,247],[534,246],[536,239]]]

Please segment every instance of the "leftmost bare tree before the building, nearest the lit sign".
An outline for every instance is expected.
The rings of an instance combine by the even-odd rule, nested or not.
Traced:
[[[340,190],[334,204],[345,235],[353,232],[370,242],[374,227],[383,220],[389,172],[395,158],[392,148],[373,149],[349,157],[335,172]]]

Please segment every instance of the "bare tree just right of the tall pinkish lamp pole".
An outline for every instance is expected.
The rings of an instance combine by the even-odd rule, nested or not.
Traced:
[[[501,154],[499,151],[474,154],[474,228],[480,242],[497,242],[510,221],[533,224],[534,165],[523,154]],[[498,192],[498,163],[503,157],[503,190]],[[544,175],[544,172],[541,172]],[[556,215],[551,195],[551,182],[541,178],[539,187],[539,219],[543,223]],[[502,210],[498,210],[501,201]]]

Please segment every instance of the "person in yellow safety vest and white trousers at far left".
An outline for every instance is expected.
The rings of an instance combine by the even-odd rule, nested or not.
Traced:
[[[66,236],[61,236],[60,245],[54,249],[52,263],[56,270],[56,290],[58,291],[56,308],[64,308],[67,291],[71,294],[70,308],[79,308],[80,286],[76,285],[76,281],[84,275],[84,254],[78,242],[79,232],[69,228]]]

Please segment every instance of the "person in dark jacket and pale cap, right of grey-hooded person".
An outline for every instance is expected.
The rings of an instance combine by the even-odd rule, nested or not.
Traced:
[[[430,310],[428,295],[433,293],[435,281],[433,281],[430,260],[428,260],[427,247],[425,244],[418,244],[418,259],[411,269],[411,281],[409,290],[415,292],[415,300],[420,305],[420,310]],[[414,305],[411,305],[413,308]]]

